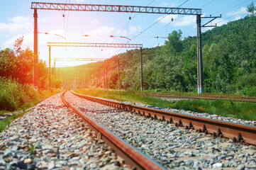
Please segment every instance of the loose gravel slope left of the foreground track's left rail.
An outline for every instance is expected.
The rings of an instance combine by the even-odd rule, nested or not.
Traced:
[[[127,169],[60,94],[13,120],[0,139],[0,169]]]

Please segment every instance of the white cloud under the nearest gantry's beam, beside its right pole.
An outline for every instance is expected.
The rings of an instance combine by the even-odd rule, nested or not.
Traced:
[[[196,22],[196,16],[168,15],[165,16],[165,18],[163,18],[163,16],[157,18],[157,21],[161,18],[161,23],[169,23],[172,26],[190,26],[194,25]]]

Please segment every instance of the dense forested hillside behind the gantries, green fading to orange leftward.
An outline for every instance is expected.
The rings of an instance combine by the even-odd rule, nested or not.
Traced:
[[[206,93],[256,96],[255,15],[202,33],[202,52]],[[143,53],[144,90],[197,91],[196,36],[182,38],[182,31],[174,30],[164,45],[145,48]],[[60,79],[71,89],[76,84],[77,89],[119,86],[139,90],[140,50],[128,50],[111,59],[120,61],[120,81],[117,62],[109,60],[60,68],[59,72],[65,73]]]

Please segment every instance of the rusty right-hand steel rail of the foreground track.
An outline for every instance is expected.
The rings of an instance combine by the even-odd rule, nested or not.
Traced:
[[[234,142],[245,142],[256,145],[256,127],[242,125],[238,123],[229,123],[223,120],[213,120],[209,118],[201,118],[194,115],[186,115],[182,113],[174,113],[162,111],[155,108],[145,108],[141,106],[130,105],[117,101],[108,101],[106,99],[85,96],[82,94],[72,94],[85,98],[89,101],[98,102],[107,106],[112,106],[125,111],[145,115],[148,118],[167,120],[169,123],[175,123],[177,126],[183,126],[187,129],[194,129],[199,132],[211,133],[214,137],[228,137]]]

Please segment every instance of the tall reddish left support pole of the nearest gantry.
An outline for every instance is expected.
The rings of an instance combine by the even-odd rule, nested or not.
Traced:
[[[38,11],[34,9],[34,66],[33,66],[33,84],[38,89]]]

